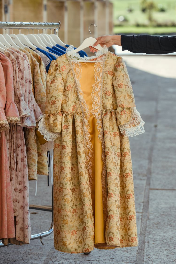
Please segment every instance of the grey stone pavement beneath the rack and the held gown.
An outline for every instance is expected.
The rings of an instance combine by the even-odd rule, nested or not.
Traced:
[[[56,251],[53,234],[30,245],[0,248],[4,264],[176,263],[176,57],[123,56],[145,133],[130,138],[139,246],[94,249],[89,255]],[[51,184],[30,181],[30,203],[51,205]],[[51,213],[30,209],[32,234],[48,230]]]

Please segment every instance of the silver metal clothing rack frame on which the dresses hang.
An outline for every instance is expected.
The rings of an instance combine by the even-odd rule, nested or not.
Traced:
[[[0,21],[0,28],[1,29],[54,29],[54,34],[58,35],[58,31],[60,29],[60,22],[58,23],[48,23],[48,22],[1,22]],[[49,186],[49,185],[48,185]],[[37,238],[40,238],[40,241],[42,243],[42,245],[44,245],[44,243],[42,242],[42,238],[43,237],[47,237],[48,235],[50,235],[53,230],[53,187],[52,187],[52,205],[51,206],[43,206],[43,205],[30,205],[29,206],[30,209],[35,209],[35,210],[41,210],[41,211],[48,211],[48,212],[52,212],[52,216],[51,216],[51,226],[49,228],[49,230],[42,232],[42,233],[38,233],[38,234],[34,234],[31,236],[30,240],[34,240]],[[8,244],[7,246],[10,246],[13,244]],[[3,243],[0,243],[0,247],[6,247]]]

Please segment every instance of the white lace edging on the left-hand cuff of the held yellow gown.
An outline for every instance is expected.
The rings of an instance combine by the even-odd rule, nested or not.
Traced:
[[[61,133],[50,132],[47,126],[45,125],[44,119],[44,116],[42,117],[42,119],[40,119],[38,130],[40,134],[44,136],[44,139],[46,141],[54,141],[56,138],[58,138],[58,136],[60,136]]]

